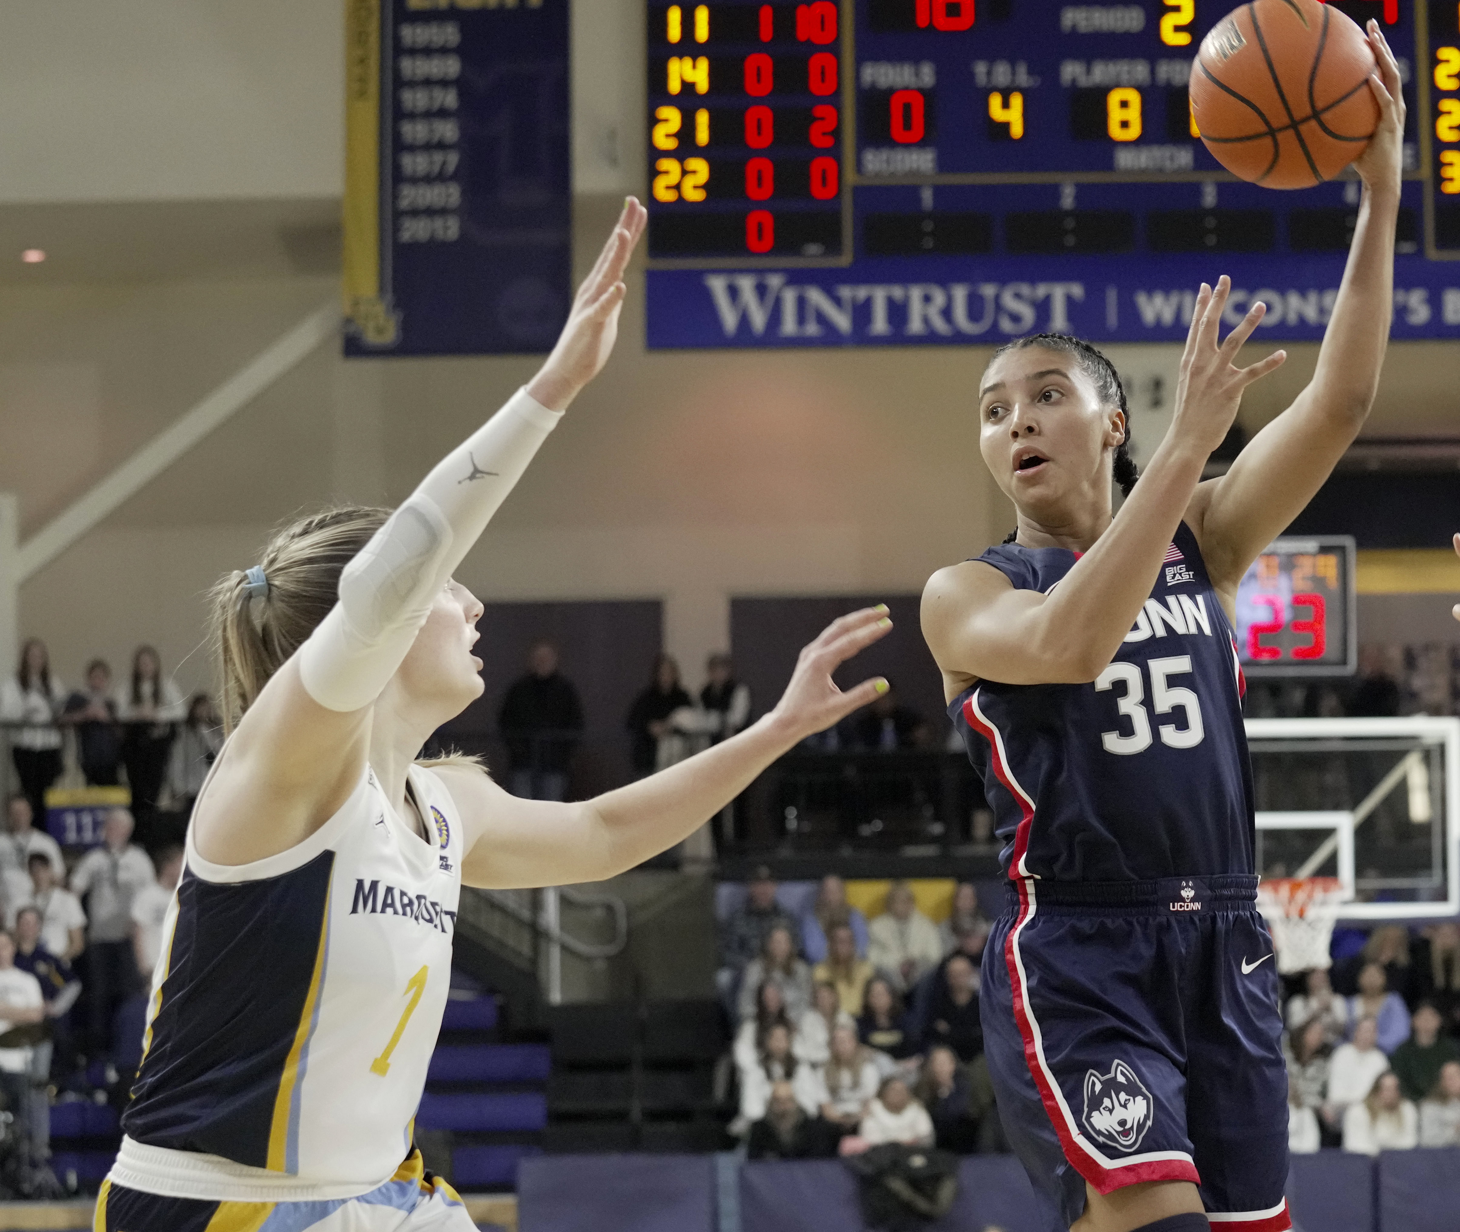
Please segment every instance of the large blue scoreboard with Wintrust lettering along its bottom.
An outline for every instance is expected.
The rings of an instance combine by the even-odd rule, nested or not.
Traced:
[[[1405,73],[1396,337],[1460,337],[1460,4],[1332,0]],[[648,0],[648,342],[1321,337],[1359,203],[1244,184],[1187,80],[1232,0]]]

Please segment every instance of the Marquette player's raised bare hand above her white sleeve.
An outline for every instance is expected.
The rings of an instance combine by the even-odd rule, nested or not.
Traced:
[[[648,210],[634,197],[625,199],[623,213],[619,215],[609,242],[603,245],[599,260],[574,296],[568,324],[562,327],[558,344],[537,375],[527,382],[527,393],[543,406],[564,410],[609,362],[613,342],[619,336],[623,272],[647,222]]]

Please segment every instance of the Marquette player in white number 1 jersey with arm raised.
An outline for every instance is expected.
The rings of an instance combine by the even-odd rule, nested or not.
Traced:
[[[542,371],[399,509],[307,518],[219,584],[241,718],[188,828],[98,1232],[467,1232],[412,1144],[461,883],[632,869],[886,689],[831,679],[891,628],[869,609],[802,651],[759,723],[594,800],[518,800],[476,763],[416,762],[483,688],[482,604],[451,574],[607,361],[644,223],[631,199]]]

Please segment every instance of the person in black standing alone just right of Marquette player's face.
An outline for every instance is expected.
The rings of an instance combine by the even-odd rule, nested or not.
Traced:
[[[512,796],[566,800],[568,766],[583,736],[583,702],[572,680],[558,670],[552,642],[533,642],[527,674],[508,688],[496,725],[507,742]]]

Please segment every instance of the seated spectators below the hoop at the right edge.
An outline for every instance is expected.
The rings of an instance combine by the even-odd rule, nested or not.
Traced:
[[[1283,1006],[1294,1152],[1460,1146],[1460,924],[1381,925],[1295,982]]]

